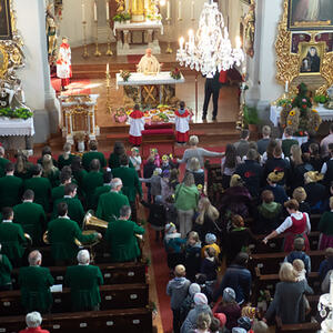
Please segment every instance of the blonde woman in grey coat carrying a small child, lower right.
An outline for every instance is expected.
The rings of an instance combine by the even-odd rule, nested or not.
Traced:
[[[303,294],[312,294],[313,290],[306,280],[297,281],[297,272],[289,262],[284,262],[279,272],[280,281],[275,287],[273,302],[263,319],[270,320],[275,313],[282,324],[299,324],[305,321]]]

